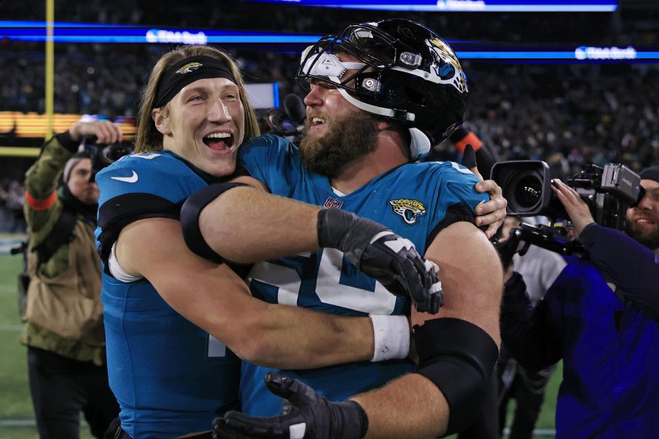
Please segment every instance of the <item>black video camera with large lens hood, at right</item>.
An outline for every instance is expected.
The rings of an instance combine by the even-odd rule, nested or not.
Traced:
[[[551,175],[543,161],[507,161],[492,167],[492,180],[501,187],[508,200],[508,214],[518,217],[544,215],[551,219],[569,219],[563,205],[551,189]],[[588,203],[597,224],[622,230],[630,206],[641,195],[640,176],[616,163],[605,167],[588,165],[579,174],[566,179]]]

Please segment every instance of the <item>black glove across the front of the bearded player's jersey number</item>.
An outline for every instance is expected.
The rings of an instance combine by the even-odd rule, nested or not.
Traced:
[[[437,265],[422,258],[409,239],[381,224],[340,209],[323,209],[318,214],[318,242],[341,250],[391,294],[411,297],[418,311],[435,314],[443,305]]]

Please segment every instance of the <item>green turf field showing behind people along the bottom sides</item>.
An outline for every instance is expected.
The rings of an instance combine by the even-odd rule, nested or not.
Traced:
[[[23,267],[20,256],[0,254],[0,439],[36,439],[34,413],[27,386],[25,347],[18,342],[21,319],[16,301],[16,276]],[[545,404],[536,428],[553,431],[556,394],[562,368],[559,367],[548,385]],[[513,410],[514,401],[509,410]],[[510,416],[509,416],[510,418]],[[551,437],[551,434],[535,436]],[[83,425],[83,439],[92,438]]]

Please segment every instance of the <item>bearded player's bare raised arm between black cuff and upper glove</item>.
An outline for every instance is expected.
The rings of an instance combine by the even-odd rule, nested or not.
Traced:
[[[199,227],[207,244],[222,257],[252,263],[319,250],[320,209],[237,187],[203,209]]]

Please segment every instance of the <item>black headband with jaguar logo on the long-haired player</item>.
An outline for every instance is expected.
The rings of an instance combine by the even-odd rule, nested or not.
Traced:
[[[176,96],[181,88],[196,80],[227,78],[235,84],[235,78],[227,64],[210,56],[191,56],[179,61],[160,77],[153,108],[159,108]]]

